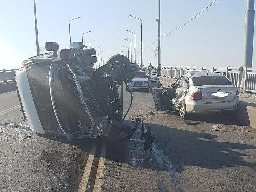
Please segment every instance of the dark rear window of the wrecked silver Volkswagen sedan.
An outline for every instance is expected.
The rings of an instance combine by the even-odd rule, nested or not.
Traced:
[[[225,76],[202,76],[191,78],[194,86],[201,85],[232,85]]]

